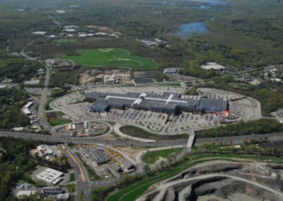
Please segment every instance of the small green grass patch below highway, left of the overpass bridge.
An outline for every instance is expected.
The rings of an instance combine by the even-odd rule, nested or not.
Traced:
[[[158,160],[159,157],[162,157],[164,159],[168,159],[171,156],[176,156],[180,154],[180,152],[183,150],[183,148],[173,148],[173,149],[166,149],[166,150],[160,150],[160,151],[150,151],[142,157],[142,160],[145,163],[153,164],[155,161]]]

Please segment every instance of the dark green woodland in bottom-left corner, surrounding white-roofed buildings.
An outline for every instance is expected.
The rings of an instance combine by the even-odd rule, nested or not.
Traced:
[[[37,183],[30,176],[37,165],[49,166],[63,172],[69,170],[69,162],[65,156],[54,161],[30,156],[30,149],[34,149],[40,143],[6,137],[0,138],[0,200],[15,200],[10,196],[10,193],[13,186],[19,181],[35,186],[42,185],[41,181]],[[38,200],[37,197],[33,198]]]

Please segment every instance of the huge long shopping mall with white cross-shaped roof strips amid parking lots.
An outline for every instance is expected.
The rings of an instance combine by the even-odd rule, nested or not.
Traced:
[[[181,98],[178,93],[165,92],[162,95],[149,93],[87,93],[86,101],[94,102],[91,111],[107,112],[111,108],[124,110],[151,110],[157,113],[179,115],[187,113],[217,113],[227,115],[229,104],[226,99]]]

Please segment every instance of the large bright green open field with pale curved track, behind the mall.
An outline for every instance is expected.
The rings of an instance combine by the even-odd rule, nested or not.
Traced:
[[[124,49],[88,49],[78,50],[79,56],[67,56],[63,59],[71,59],[79,65],[89,67],[132,67],[134,69],[152,70],[158,69],[154,59],[148,57],[130,56]]]

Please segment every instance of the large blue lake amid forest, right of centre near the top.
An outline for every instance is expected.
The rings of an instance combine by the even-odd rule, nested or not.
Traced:
[[[208,30],[204,22],[194,22],[194,23],[185,23],[183,25],[180,25],[178,30],[169,34],[177,35],[180,38],[186,39],[194,33],[201,34],[201,33],[207,33],[207,31]]]

